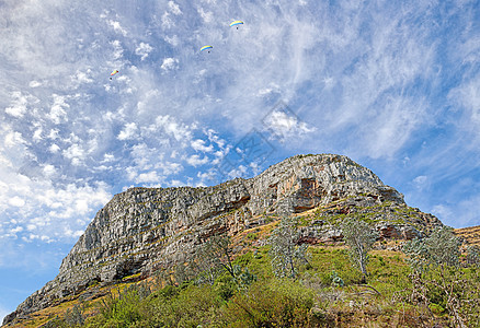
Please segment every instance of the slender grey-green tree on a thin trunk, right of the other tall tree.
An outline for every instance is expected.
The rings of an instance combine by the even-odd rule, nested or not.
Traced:
[[[343,239],[348,246],[352,263],[362,271],[362,282],[366,282],[368,251],[374,245],[377,233],[361,220],[347,219],[342,224]]]

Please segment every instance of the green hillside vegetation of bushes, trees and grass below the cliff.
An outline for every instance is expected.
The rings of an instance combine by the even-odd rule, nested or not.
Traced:
[[[285,220],[270,245],[236,257],[231,239],[213,237],[174,270],[69,303],[45,327],[479,327],[478,249],[459,257],[449,231],[409,243],[407,258],[366,247],[365,284],[345,246],[310,246],[308,262],[275,274],[275,236],[296,235],[295,226]],[[279,239],[279,256],[295,260],[294,238]]]

